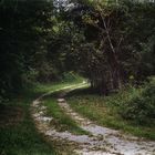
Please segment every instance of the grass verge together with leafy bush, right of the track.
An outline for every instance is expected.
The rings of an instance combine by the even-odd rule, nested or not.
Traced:
[[[155,80],[143,86],[127,86],[108,96],[90,89],[69,94],[69,104],[100,125],[155,140]]]

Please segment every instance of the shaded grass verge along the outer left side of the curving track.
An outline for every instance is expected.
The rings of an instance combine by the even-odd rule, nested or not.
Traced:
[[[71,84],[83,79],[59,83],[39,84],[22,91],[9,102],[0,105],[0,155],[54,155],[56,154],[38,133],[30,115],[30,104],[43,93]],[[66,120],[68,121],[68,120]],[[70,124],[70,123],[69,123]],[[71,126],[75,126],[71,122]],[[80,128],[75,128],[80,130]],[[81,131],[82,132],[82,131]]]

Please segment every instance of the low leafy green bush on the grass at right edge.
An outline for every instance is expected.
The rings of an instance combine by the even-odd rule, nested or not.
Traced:
[[[146,84],[140,95],[120,105],[120,114],[126,120],[140,124],[151,123],[155,118],[155,81]]]

